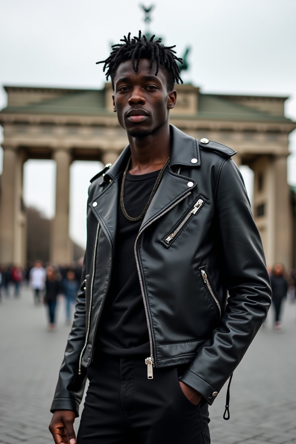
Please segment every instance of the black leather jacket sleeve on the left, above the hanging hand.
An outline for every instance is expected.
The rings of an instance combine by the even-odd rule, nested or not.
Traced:
[[[83,349],[86,333],[85,278],[86,253],[83,259],[81,282],[76,298],[74,322],[59,371],[54,400],[51,404],[52,413],[55,410],[73,410],[76,417],[79,416],[79,404],[83,397],[87,379],[85,367],[81,367],[81,375],[78,374],[79,357]]]

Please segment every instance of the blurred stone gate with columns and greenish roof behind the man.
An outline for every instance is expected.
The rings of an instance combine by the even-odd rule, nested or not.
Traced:
[[[170,122],[185,133],[235,149],[233,160],[254,171],[253,214],[268,266],[292,265],[292,200],[287,184],[288,135],[296,123],[284,115],[287,97],[203,94],[177,85]],[[102,90],[6,86],[0,112],[4,165],[0,177],[0,264],[26,262],[23,165],[28,159],[56,162],[56,207],[50,261],[72,261],[69,167],[75,160],[114,163],[126,132],[112,107],[111,83]],[[180,147],[182,149],[182,147]],[[42,186],[42,184],[40,184]],[[83,207],[85,211],[85,207]]]

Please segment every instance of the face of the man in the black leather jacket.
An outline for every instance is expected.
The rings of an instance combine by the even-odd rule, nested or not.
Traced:
[[[136,62],[136,60],[135,60]],[[160,67],[154,75],[155,62],[141,59],[138,72],[126,60],[114,75],[114,111],[118,122],[132,137],[145,137],[166,125],[169,109],[176,103],[176,91],[167,91],[167,79]]]

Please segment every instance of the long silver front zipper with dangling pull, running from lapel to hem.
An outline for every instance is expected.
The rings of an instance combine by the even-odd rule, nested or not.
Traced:
[[[150,222],[148,222],[145,226],[143,226],[141,228],[141,230],[138,232],[138,236],[134,242],[134,255],[136,258],[136,265],[137,265],[138,277],[139,277],[139,281],[140,281],[141,293],[142,293],[142,298],[143,298],[144,308],[145,308],[145,313],[146,313],[146,321],[147,321],[149,343],[150,343],[150,357],[145,358],[145,364],[147,365],[148,379],[153,379],[154,357],[153,357],[151,327],[150,327],[150,321],[149,321],[149,316],[148,316],[147,303],[146,303],[146,298],[145,298],[141,270],[140,270],[139,261],[138,261],[137,242],[138,242],[138,238],[139,238],[140,234],[142,234],[142,232],[145,230],[145,228],[147,228],[147,226],[151,225],[154,221],[156,221],[157,219],[162,217],[164,214],[166,214],[168,211],[170,211],[172,208],[174,208],[174,206],[176,206],[179,202],[181,202],[183,199],[185,199],[187,196],[189,196],[189,194],[191,194],[191,191],[188,191],[188,193],[184,194],[184,196],[182,196],[180,199],[178,199],[176,202],[174,202],[165,211],[163,211],[161,214],[158,214],[158,216],[156,216],[154,219],[152,219]]]

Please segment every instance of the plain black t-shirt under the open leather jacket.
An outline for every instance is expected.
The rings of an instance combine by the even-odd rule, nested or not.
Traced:
[[[150,198],[160,170],[147,174],[126,173],[123,202],[130,217],[139,216]],[[134,243],[143,218],[129,221],[120,206],[111,282],[96,335],[96,348],[112,355],[150,356],[146,313],[134,255]]]

